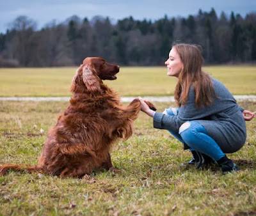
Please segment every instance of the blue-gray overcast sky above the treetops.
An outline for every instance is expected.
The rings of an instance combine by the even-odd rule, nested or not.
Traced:
[[[228,17],[233,11],[243,17],[256,12],[256,0],[0,0],[0,33],[19,15],[26,15],[38,24],[38,29],[56,20],[63,22],[72,15],[92,19],[102,15],[118,20],[132,16],[134,19],[156,20],[168,17],[196,15],[199,9],[217,15],[223,11]]]

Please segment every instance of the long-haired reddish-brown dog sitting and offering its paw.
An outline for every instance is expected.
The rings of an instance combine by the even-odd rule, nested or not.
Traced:
[[[72,81],[70,105],[49,130],[38,165],[6,164],[0,166],[1,174],[8,169],[26,169],[30,173],[81,178],[93,167],[112,168],[111,147],[116,139],[131,137],[141,107],[138,99],[124,107],[119,96],[103,84],[102,80],[116,79],[118,72],[118,65],[102,58],[84,59]]]

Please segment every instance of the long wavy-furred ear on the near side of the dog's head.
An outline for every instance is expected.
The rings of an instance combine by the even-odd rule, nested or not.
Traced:
[[[100,91],[100,79],[92,65],[83,66],[83,81],[89,91]]]

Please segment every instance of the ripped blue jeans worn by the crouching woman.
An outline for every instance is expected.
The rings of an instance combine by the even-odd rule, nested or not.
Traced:
[[[176,116],[179,113],[177,108],[168,108],[164,111],[165,114],[170,116]],[[189,150],[199,151],[208,155],[213,160],[220,160],[225,156],[225,153],[221,150],[220,146],[207,135],[205,128],[197,121],[187,121],[179,128],[179,134],[168,130],[175,138],[181,143],[186,143],[189,146]]]

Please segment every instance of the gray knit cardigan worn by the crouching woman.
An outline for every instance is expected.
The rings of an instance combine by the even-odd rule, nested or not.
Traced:
[[[177,116],[161,112],[154,114],[154,128],[178,133],[180,126],[186,121],[197,121],[224,153],[233,153],[242,148],[246,140],[246,125],[242,114],[244,109],[237,105],[234,96],[220,81],[212,78],[212,84],[217,97],[214,97],[211,106],[196,108],[195,91],[191,87],[188,102],[179,107]]]

